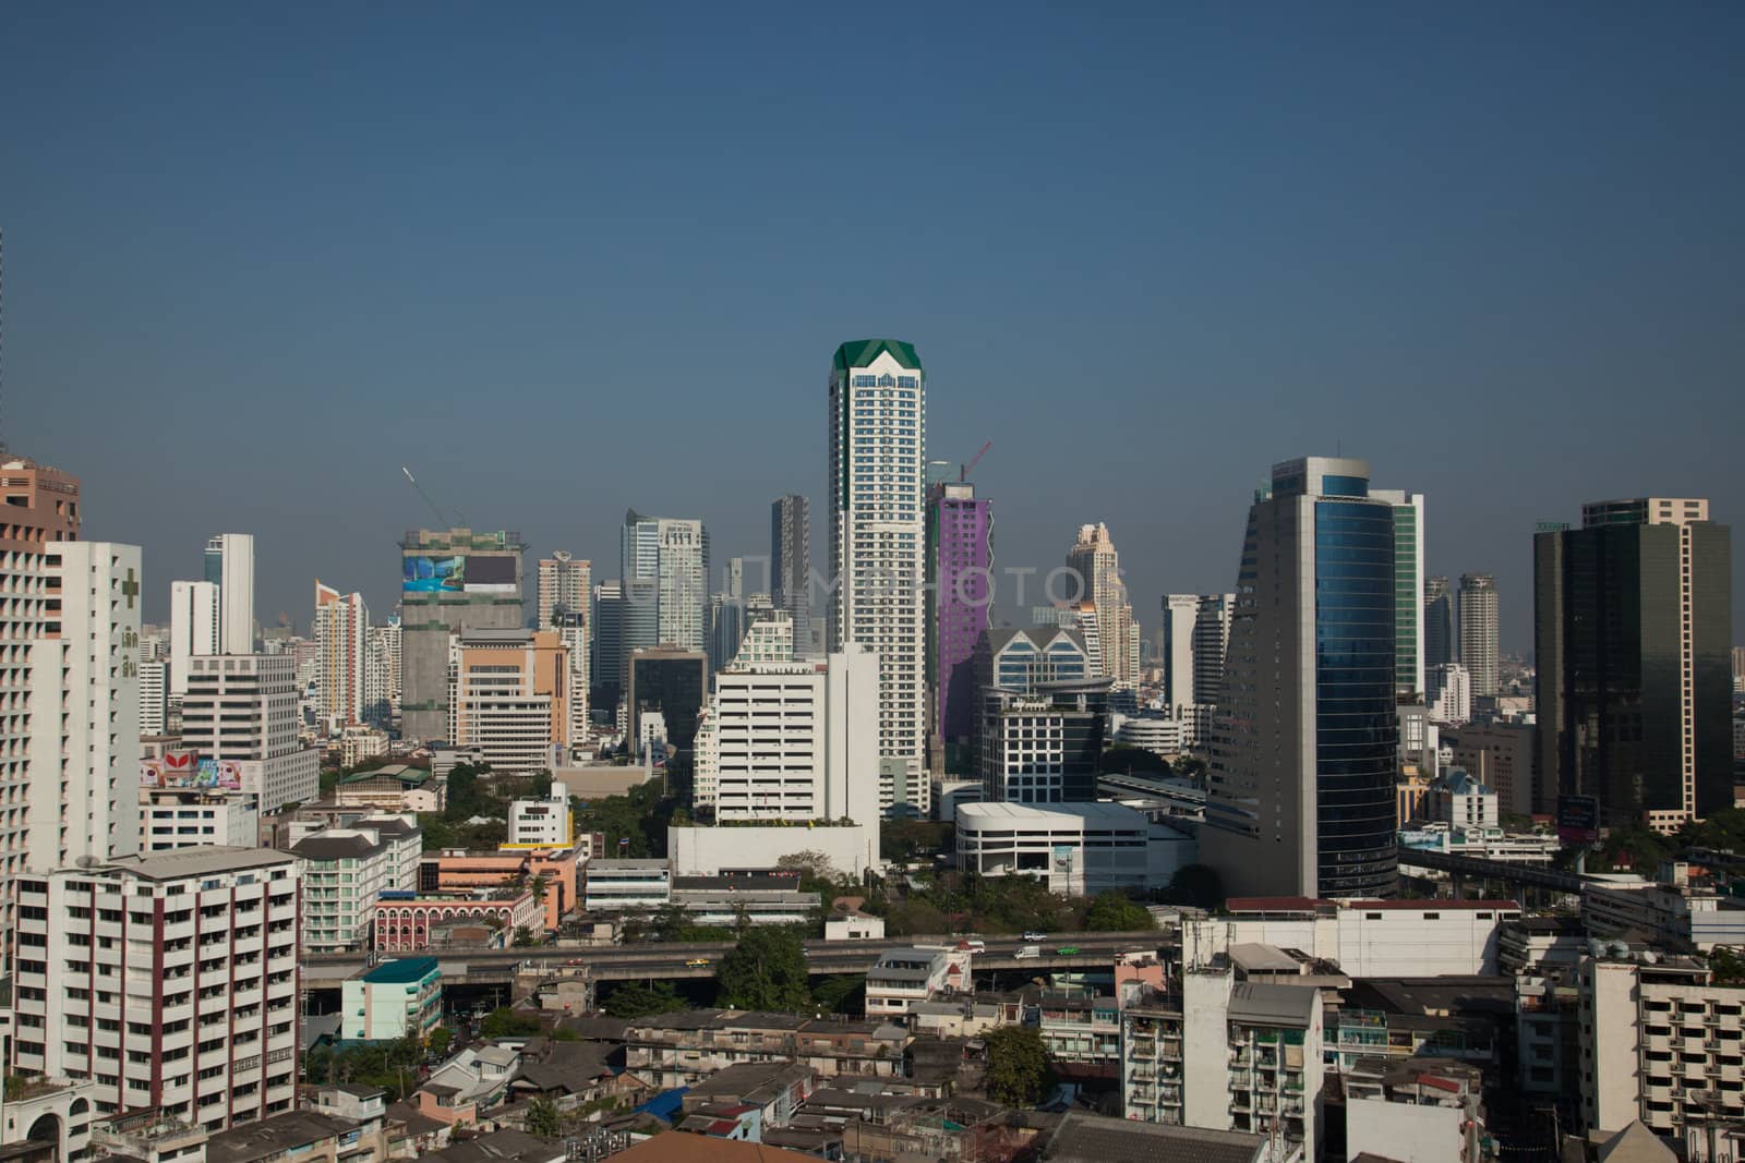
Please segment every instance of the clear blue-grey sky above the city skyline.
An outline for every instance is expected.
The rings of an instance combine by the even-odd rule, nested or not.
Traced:
[[[1108,521],[1155,624],[1344,450],[1525,649],[1536,520],[1745,525],[1742,207],[1740,3],[3,3],[0,427],[148,616],[229,530],[302,624],[391,609],[401,464],[597,575],[628,506],[822,546],[890,335],[1002,563]]]

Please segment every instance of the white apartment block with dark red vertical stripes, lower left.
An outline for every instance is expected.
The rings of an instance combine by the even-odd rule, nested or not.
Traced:
[[[14,1069],[206,1130],[291,1109],[295,856],[127,856],[24,877],[17,905]]]

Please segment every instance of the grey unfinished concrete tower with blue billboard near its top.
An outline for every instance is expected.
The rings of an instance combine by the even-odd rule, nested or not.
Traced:
[[[522,535],[471,528],[408,530],[400,542],[400,729],[448,738],[448,638],[522,626]]]

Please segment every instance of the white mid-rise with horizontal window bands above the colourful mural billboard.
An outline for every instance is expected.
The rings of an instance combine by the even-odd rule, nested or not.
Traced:
[[[321,757],[297,734],[297,659],[213,654],[188,661],[181,746],[201,760],[236,764],[239,788],[263,813],[321,793]]]

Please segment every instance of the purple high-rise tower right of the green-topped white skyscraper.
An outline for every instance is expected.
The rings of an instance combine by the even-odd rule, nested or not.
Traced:
[[[930,732],[970,741],[975,725],[975,640],[993,624],[993,504],[970,483],[941,481],[927,497]]]

